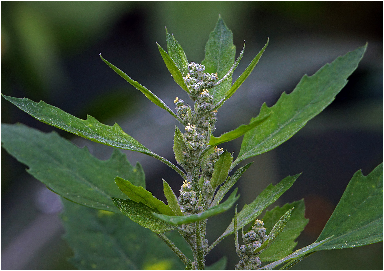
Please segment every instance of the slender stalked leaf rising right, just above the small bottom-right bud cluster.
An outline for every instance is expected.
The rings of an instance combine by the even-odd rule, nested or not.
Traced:
[[[290,188],[293,182],[300,176],[300,174],[296,174],[294,176],[285,177],[281,180],[276,186],[270,184],[266,189],[264,189],[260,195],[257,196],[255,200],[253,200],[250,204],[245,204],[243,209],[238,213],[238,227],[244,227],[251,221],[255,220],[258,215],[260,215],[263,210],[275,202],[288,188]],[[233,230],[233,219],[229,224],[225,232],[217,238],[214,243],[209,247],[208,251],[212,250],[221,240],[223,240],[228,235],[231,235],[234,232]]]

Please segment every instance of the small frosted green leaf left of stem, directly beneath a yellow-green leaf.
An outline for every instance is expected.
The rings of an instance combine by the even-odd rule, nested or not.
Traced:
[[[130,199],[118,199],[115,197],[112,197],[111,199],[124,215],[131,218],[131,220],[137,224],[149,228],[152,232],[164,233],[177,229],[174,225],[155,217],[152,212],[156,212],[156,210],[149,208],[141,202],[135,202]]]

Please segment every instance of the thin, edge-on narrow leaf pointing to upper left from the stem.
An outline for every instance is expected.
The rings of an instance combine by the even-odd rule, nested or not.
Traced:
[[[136,87],[136,89],[140,90],[146,97],[154,104],[156,104],[158,107],[163,108],[167,112],[169,112],[172,116],[174,116],[179,122],[182,122],[182,120],[175,114],[175,112],[172,111],[172,109],[169,108],[166,103],[164,103],[159,97],[157,97],[155,94],[153,94],[150,90],[148,90],[143,85],[139,84],[139,82],[133,80],[131,77],[129,77],[125,72],[121,71],[118,67],[112,65],[109,63],[106,59],[104,59],[100,54],[101,59],[109,66],[111,69],[113,69],[119,76],[124,78],[129,84]]]

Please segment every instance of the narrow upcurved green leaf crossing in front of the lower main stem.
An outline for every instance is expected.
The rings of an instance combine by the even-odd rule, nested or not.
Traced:
[[[236,200],[238,200],[238,198],[240,197],[240,194],[236,196],[236,193],[237,193],[237,188],[235,189],[235,191],[232,192],[232,194],[228,197],[228,199],[225,200],[225,202],[215,207],[209,208],[208,210],[199,214],[184,215],[184,216],[169,216],[169,215],[153,213],[153,215],[173,225],[187,224],[187,223],[204,220],[205,218],[212,217],[213,215],[221,214],[222,212],[225,212],[226,210],[230,209],[232,205],[236,202]]]

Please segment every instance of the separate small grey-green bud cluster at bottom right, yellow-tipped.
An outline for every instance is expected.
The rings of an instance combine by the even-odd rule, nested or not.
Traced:
[[[245,245],[239,247],[241,260],[236,265],[235,270],[257,270],[260,268],[262,262],[257,256],[260,252],[253,253],[252,251],[261,246],[268,238],[265,230],[264,223],[261,220],[255,220],[255,225],[244,235]]]

